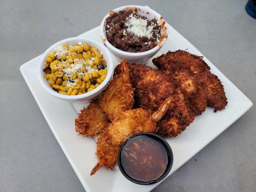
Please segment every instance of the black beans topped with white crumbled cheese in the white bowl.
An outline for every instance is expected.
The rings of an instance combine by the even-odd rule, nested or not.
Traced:
[[[148,20],[133,11],[112,13],[106,19],[105,29],[110,44],[126,52],[144,52],[160,41],[160,21]]]

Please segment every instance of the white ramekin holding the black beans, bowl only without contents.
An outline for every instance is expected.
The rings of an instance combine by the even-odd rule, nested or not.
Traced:
[[[130,53],[130,52],[125,52],[118,48],[115,48],[108,41],[107,36],[106,36],[106,29],[105,29],[107,17],[109,17],[113,12],[120,12],[123,10],[131,10],[131,9],[136,11],[139,15],[145,16],[146,18],[148,18],[150,20],[153,18],[156,18],[157,20],[160,21],[160,23],[161,23],[160,42],[158,43],[158,45],[155,48],[152,48],[150,50],[147,50],[147,51],[141,52],[141,53]],[[128,62],[141,63],[141,62],[146,62],[146,60],[153,57],[163,46],[163,44],[165,43],[165,41],[168,37],[168,27],[167,27],[167,24],[166,24],[164,18],[158,12],[150,9],[148,6],[127,5],[127,6],[119,7],[117,9],[110,11],[104,17],[104,19],[102,20],[102,22],[100,24],[100,35],[101,35],[101,39],[102,39],[104,45],[107,48],[109,48],[111,53],[118,60],[121,60],[122,58],[124,58]]]

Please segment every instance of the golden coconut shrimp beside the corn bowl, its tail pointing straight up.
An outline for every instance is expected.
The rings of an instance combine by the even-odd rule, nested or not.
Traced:
[[[122,73],[114,77],[107,90],[99,99],[99,106],[109,120],[113,121],[123,111],[133,108],[134,88],[130,83],[130,72],[127,63],[122,59]]]

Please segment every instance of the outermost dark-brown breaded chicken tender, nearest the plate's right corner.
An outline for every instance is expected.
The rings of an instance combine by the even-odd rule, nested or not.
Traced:
[[[219,78],[209,71],[210,67],[203,60],[203,57],[178,50],[175,52],[169,51],[154,59],[153,62],[160,70],[168,71],[169,74],[179,70],[178,66],[189,69],[191,73],[186,73],[190,77],[195,77],[196,82],[200,83],[198,95],[206,95],[208,106],[215,108],[215,110],[221,110],[227,105],[228,102],[223,85]]]

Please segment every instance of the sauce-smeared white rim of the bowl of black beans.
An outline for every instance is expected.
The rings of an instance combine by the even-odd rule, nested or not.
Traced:
[[[149,49],[147,51],[144,51],[144,52],[140,52],[140,53],[132,53],[132,52],[126,52],[126,51],[123,51],[123,50],[120,50],[116,47],[114,47],[107,39],[107,36],[106,36],[106,33],[104,32],[104,25],[105,25],[105,21],[107,19],[107,17],[110,16],[110,12],[119,12],[119,11],[122,11],[126,8],[129,8],[129,7],[134,7],[134,8],[138,8],[138,9],[147,9],[148,11],[154,13],[154,16],[157,16],[159,19],[162,18],[162,22],[161,24],[164,24],[165,28],[166,28],[166,31],[165,31],[165,35],[166,37],[164,37],[164,39],[162,40],[162,42],[160,41],[156,47],[152,48],[152,49]],[[126,6],[122,6],[122,7],[118,7],[116,9],[113,9],[111,10],[110,12],[108,12],[108,14],[102,19],[101,21],[101,24],[100,24],[100,35],[101,35],[101,39],[104,43],[104,45],[108,48],[110,48],[111,50],[115,51],[115,52],[118,52],[122,55],[125,55],[125,56],[129,56],[129,57],[133,57],[133,56],[136,56],[136,57],[139,57],[139,56],[147,56],[149,54],[152,54],[154,53],[155,51],[157,51],[158,49],[160,49],[164,43],[166,42],[167,38],[168,38],[168,25],[165,21],[165,19],[158,13],[156,12],[155,10],[151,9],[150,7],[148,6],[140,6],[140,5],[126,5]]]

